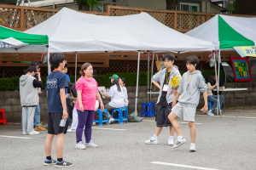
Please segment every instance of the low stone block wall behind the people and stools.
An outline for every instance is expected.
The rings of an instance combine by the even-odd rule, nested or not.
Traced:
[[[246,105],[255,105],[254,99],[256,99],[256,82],[232,82],[225,83],[225,87],[228,88],[248,88],[245,92],[245,104]],[[135,111],[135,94],[136,87],[127,87],[128,97],[129,97],[129,113]],[[158,91],[157,88],[153,88],[153,91]],[[242,91],[236,92],[238,96],[242,96]],[[152,102],[156,102],[158,94],[152,94]],[[146,103],[148,100],[147,96],[147,87],[141,86],[138,88],[138,104],[137,111],[140,115],[142,110],[142,103]],[[104,99],[104,104],[108,104],[110,99]],[[200,103],[197,109],[201,109],[204,105],[203,97],[201,94]],[[233,105],[233,94],[225,94],[225,105]],[[236,105],[242,105],[242,99],[236,99]],[[157,110],[157,105],[155,105]],[[8,122],[20,122],[21,117],[21,105],[20,105],[20,93],[15,92],[0,92],[0,109],[6,111],[6,118]],[[41,109],[41,120],[46,120],[48,115],[47,107],[47,97],[46,91],[43,90],[43,93],[40,94],[40,109]]]

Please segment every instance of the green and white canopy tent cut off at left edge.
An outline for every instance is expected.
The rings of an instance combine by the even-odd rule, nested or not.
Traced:
[[[21,31],[15,31],[10,28],[0,26],[0,52],[3,53],[22,53],[21,48],[37,48],[46,46],[48,49],[48,37],[43,35],[27,34]],[[35,50],[31,51],[35,53]],[[42,51],[38,51],[42,52]],[[48,62],[48,71],[49,71]]]

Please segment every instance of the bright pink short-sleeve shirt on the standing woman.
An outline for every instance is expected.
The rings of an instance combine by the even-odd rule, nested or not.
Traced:
[[[96,92],[98,90],[98,83],[92,77],[90,80],[80,77],[76,83],[77,91],[82,90],[82,104],[84,110],[95,111]],[[75,108],[79,110],[79,102],[76,103]]]

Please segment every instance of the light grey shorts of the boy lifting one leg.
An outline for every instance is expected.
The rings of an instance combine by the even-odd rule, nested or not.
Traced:
[[[177,103],[173,108],[172,112],[179,118],[183,118],[183,121],[195,122],[195,109],[186,107]]]

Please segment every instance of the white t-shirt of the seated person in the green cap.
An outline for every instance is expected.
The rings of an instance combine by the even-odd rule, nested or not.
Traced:
[[[121,91],[118,91],[117,85],[113,85],[108,92],[108,96],[111,98],[111,101],[108,103],[108,105],[120,108],[124,107],[125,100],[124,100],[124,94],[123,94],[123,88],[119,85]]]

